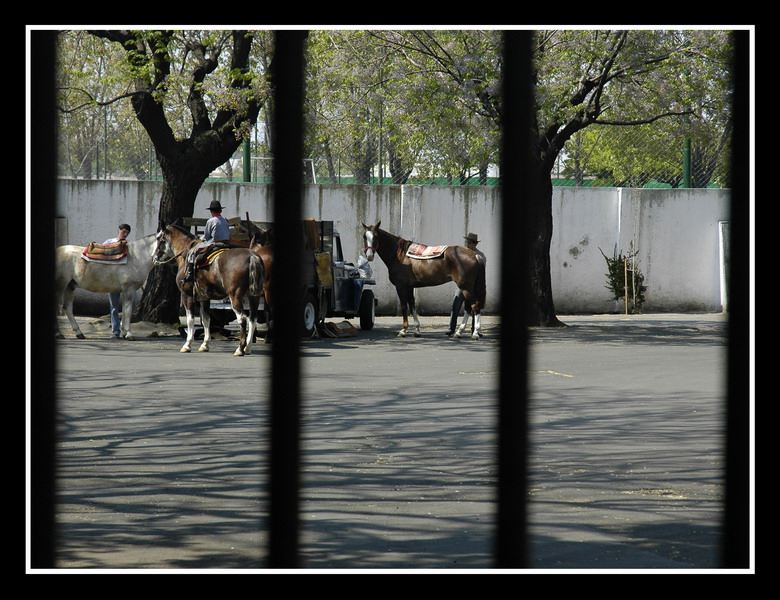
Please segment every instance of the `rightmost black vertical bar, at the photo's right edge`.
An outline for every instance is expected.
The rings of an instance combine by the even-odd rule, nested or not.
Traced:
[[[735,31],[726,503],[721,560],[750,565],[750,32]]]

